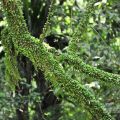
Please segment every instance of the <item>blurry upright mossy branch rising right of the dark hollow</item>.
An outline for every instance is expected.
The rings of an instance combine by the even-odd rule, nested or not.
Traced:
[[[81,40],[82,34],[85,32],[87,25],[89,23],[89,17],[94,12],[94,4],[96,0],[89,0],[86,6],[86,9],[81,15],[80,21],[78,26],[76,27],[75,31],[73,32],[72,39],[69,44],[69,51],[70,52],[76,52],[78,50],[78,43]]]

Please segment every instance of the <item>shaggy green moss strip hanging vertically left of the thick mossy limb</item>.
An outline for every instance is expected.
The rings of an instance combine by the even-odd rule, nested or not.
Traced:
[[[17,52],[13,50],[12,37],[8,35],[8,29],[2,31],[2,44],[5,48],[5,66],[6,66],[6,80],[8,85],[14,89],[20,80],[20,75],[17,65]]]

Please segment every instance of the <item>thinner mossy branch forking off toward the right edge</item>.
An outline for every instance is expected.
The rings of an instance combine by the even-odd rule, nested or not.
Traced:
[[[75,69],[94,79],[103,81],[106,85],[120,86],[120,75],[108,73],[90,66],[74,55],[62,54],[60,60],[67,61],[67,63],[73,65]]]

